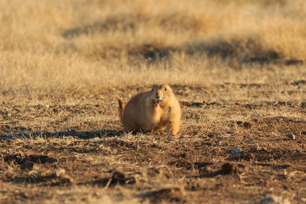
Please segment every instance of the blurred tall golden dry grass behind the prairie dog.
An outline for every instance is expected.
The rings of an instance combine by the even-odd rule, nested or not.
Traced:
[[[0,91],[305,79],[305,17],[303,0],[3,0]]]

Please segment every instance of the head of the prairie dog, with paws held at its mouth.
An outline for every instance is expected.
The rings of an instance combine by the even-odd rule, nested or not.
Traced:
[[[171,87],[167,83],[155,84],[150,92],[151,99],[167,101],[173,95]]]

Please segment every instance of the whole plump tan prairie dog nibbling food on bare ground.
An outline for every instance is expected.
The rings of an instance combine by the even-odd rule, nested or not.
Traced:
[[[181,108],[168,84],[155,84],[152,89],[139,92],[130,99],[125,108],[122,98],[117,99],[119,117],[126,131],[167,129],[172,135],[179,132]]]

